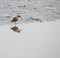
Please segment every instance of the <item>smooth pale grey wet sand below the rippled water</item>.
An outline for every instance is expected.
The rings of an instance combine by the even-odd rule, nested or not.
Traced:
[[[60,21],[0,26],[0,58],[60,58]]]

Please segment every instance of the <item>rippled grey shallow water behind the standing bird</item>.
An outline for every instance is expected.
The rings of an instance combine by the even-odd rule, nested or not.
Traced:
[[[22,22],[60,19],[60,0],[0,0],[0,25],[9,24],[16,15],[21,15]]]

